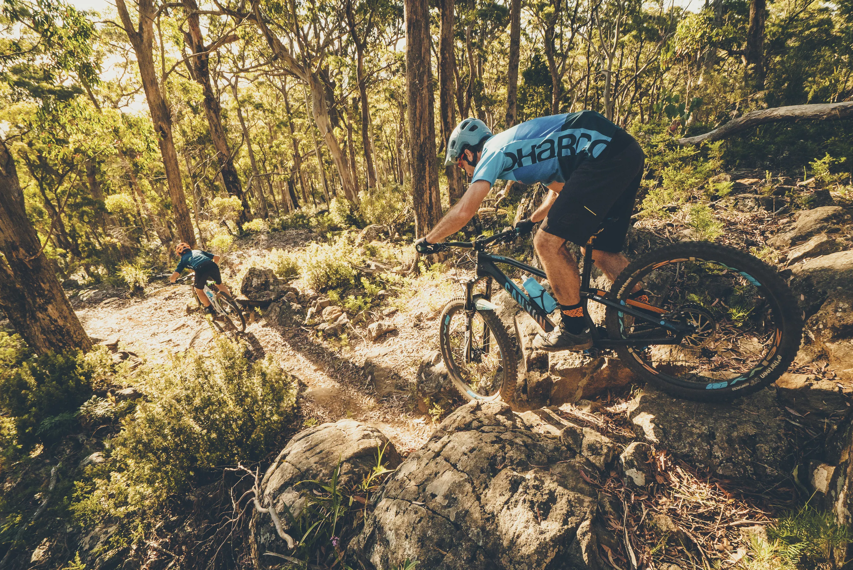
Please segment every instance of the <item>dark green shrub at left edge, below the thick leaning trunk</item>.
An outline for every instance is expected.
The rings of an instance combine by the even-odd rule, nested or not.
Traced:
[[[104,346],[88,354],[44,354],[0,371],[0,408],[15,418],[20,445],[50,443],[77,421],[74,414],[111,375]]]

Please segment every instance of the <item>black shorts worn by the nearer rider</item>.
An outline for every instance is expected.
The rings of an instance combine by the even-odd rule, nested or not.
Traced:
[[[633,138],[612,157],[585,160],[566,181],[541,230],[579,246],[598,232],[595,249],[621,252],[645,160]]]

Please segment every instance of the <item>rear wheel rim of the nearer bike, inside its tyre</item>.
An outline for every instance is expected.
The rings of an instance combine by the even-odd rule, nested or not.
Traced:
[[[627,352],[656,381],[673,387],[745,386],[775,369],[769,364],[780,358],[782,311],[751,268],[707,257],[670,259],[630,276],[622,291],[641,283],[652,293],[650,304],[664,311],[660,318],[692,330],[677,345],[633,346]],[[657,323],[623,312],[618,327],[626,339],[674,337]]]

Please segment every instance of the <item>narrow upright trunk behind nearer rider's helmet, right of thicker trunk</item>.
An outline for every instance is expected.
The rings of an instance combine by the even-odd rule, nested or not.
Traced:
[[[456,54],[453,49],[453,13],[454,0],[441,0],[441,32],[438,45],[438,108],[441,110],[441,143],[444,153],[449,152],[447,139],[456,127],[456,106],[453,93],[456,81],[453,68],[456,66]],[[462,177],[456,165],[444,167],[447,175],[447,194],[452,206],[462,197]]]

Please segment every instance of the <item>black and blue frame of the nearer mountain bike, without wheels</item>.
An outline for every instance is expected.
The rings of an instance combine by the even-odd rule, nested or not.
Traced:
[[[503,257],[502,255],[493,255],[491,253],[486,253],[483,248],[475,247],[474,248],[477,253],[477,277],[475,279],[467,280],[463,282],[465,286],[465,310],[466,311],[474,311],[475,301],[473,300],[473,289],[474,286],[482,279],[486,279],[485,284],[485,299],[491,300],[491,282],[494,280],[497,284],[503,288],[512,298],[513,300],[519,304],[519,306],[527,312],[533,319],[539,324],[540,327],[546,332],[549,333],[554,330],[555,325],[554,322],[548,317],[548,313],[545,312],[543,307],[539,306],[535,301],[531,300],[531,298],[525,294],[524,290],[519,288],[518,285],[513,282],[508,276],[506,276],[502,270],[500,270],[496,264],[506,264],[511,265],[517,269],[527,271],[535,276],[539,277],[547,277],[545,272],[536,267],[532,267],[531,265],[527,265],[525,263],[520,262],[517,259]],[[605,348],[610,346],[649,346],[649,345],[677,345],[680,344],[684,335],[690,332],[688,326],[682,323],[673,323],[662,319],[660,317],[661,313],[664,311],[655,307],[653,305],[646,305],[645,303],[640,303],[637,301],[613,301],[606,299],[607,291],[603,291],[598,288],[589,288],[589,281],[592,274],[592,240],[590,240],[585,248],[585,252],[583,255],[583,271],[581,273],[581,305],[583,306],[583,316],[586,317],[589,322],[589,327],[593,331],[593,346],[597,348]],[[674,336],[665,336],[662,335],[660,338],[646,338],[646,339],[601,339],[596,338],[599,334],[596,331],[596,328],[592,322],[592,318],[589,317],[589,311],[587,310],[587,304],[589,300],[594,300],[597,303],[601,303],[601,305],[611,306],[618,311],[623,313],[627,313],[632,317],[640,319],[641,321],[646,321],[647,323],[653,323],[659,327],[664,329],[668,329]],[[470,319],[467,319],[467,335],[470,336]],[[470,343],[466,343],[469,345]],[[488,337],[485,338],[485,352],[488,352]],[[467,350],[470,349],[470,346],[467,346]],[[466,351],[467,352],[467,351]],[[466,360],[468,355],[466,355]]]

